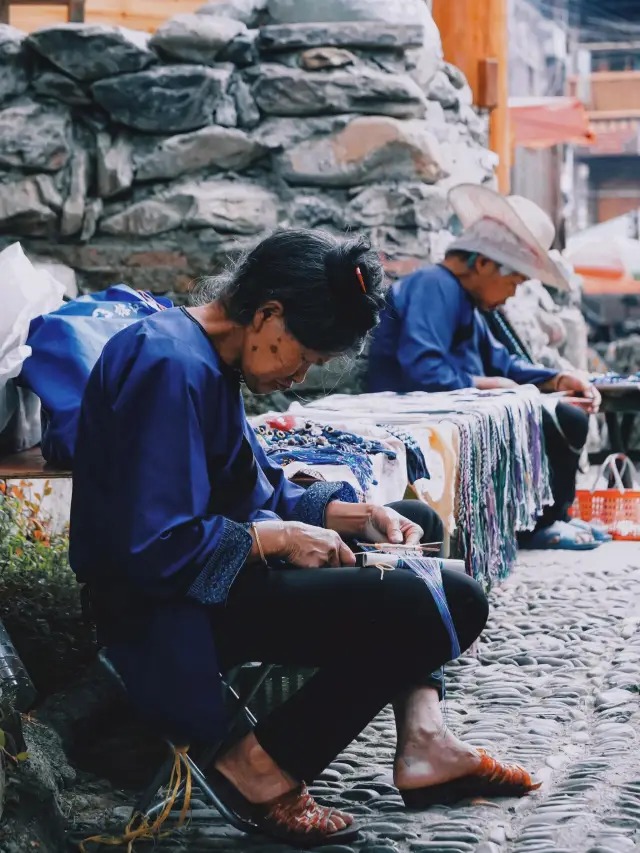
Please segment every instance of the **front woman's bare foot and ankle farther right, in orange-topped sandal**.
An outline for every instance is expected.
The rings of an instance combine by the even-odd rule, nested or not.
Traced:
[[[395,708],[398,748],[394,781],[400,790],[451,782],[477,771],[482,757],[450,732],[440,698],[432,687],[419,687]]]

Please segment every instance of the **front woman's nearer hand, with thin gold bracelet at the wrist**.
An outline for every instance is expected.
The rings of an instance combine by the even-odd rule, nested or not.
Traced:
[[[286,560],[301,569],[355,566],[356,558],[335,530],[298,521],[256,524],[266,557]],[[255,537],[255,533],[253,534]],[[257,549],[257,543],[254,543]],[[255,556],[255,554],[254,554]]]

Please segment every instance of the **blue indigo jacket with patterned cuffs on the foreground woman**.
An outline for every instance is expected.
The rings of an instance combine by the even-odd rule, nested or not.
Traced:
[[[249,524],[322,526],[328,501],[355,492],[286,479],[247,423],[238,373],[177,308],[107,343],[73,479],[71,566],[134,706],[178,742],[215,740],[225,718],[211,620],[251,550]]]

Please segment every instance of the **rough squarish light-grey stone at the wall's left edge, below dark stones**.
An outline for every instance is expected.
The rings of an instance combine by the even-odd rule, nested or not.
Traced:
[[[0,110],[0,167],[57,172],[71,155],[64,107],[20,101]]]

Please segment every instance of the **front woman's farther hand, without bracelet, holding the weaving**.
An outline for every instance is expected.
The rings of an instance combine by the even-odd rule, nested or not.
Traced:
[[[418,545],[421,527],[389,507],[375,504],[348,504],[331,501],[325,511],[325,525],[348,539]]]

